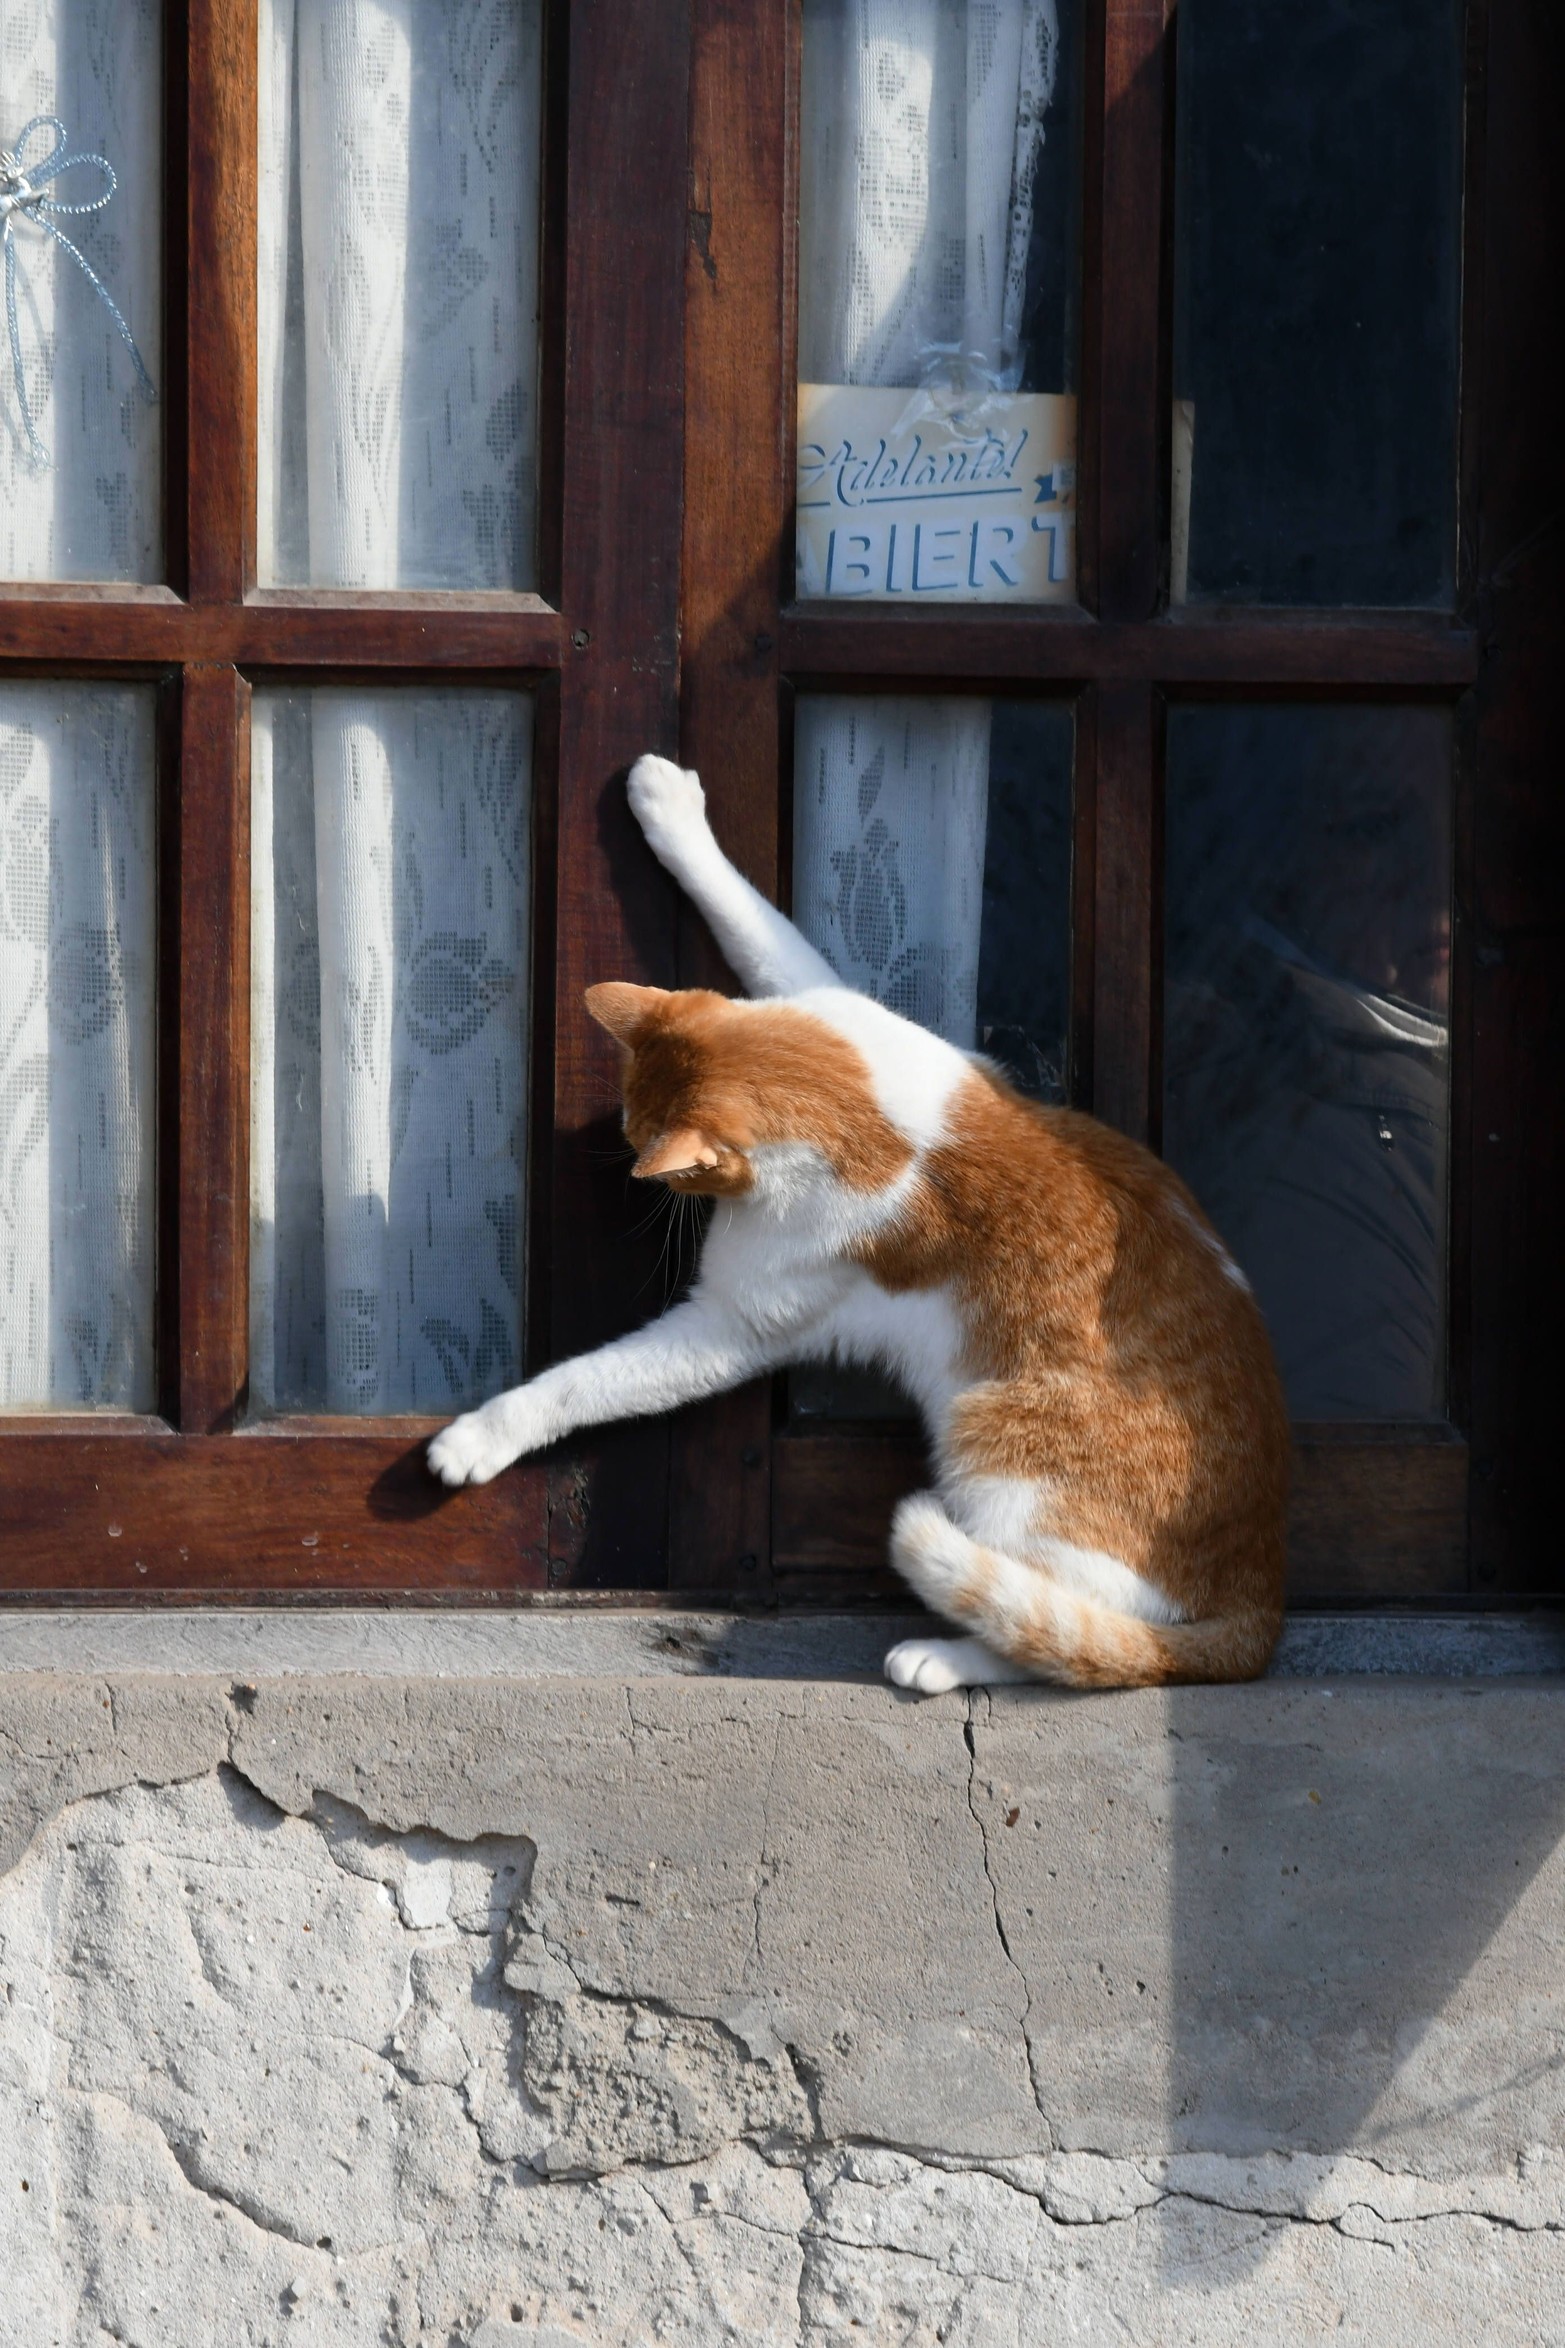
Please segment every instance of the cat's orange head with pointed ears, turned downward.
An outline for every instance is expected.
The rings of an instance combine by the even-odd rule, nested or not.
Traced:
[[[798,1165],[878,1190],[910,1158],[863,1057],[791,1003],[730,1003],[704,986],[589,986],[587,1010],[624,1050],[624,1134],[643,1181],[741,1197]]]

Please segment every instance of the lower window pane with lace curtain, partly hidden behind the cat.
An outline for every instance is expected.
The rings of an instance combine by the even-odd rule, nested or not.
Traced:
[[[849,986],[1023,1092],[1065,1099],[1070,782],[1058,702],[800,695],[793,918]],[[906,1416],[861,1371],[800,1371],[793,1409]]]

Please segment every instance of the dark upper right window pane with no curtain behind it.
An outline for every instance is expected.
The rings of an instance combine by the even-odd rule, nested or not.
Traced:
[[[1462,0],[1183,0],[1178,42],[1173,596],[1448,603]]]

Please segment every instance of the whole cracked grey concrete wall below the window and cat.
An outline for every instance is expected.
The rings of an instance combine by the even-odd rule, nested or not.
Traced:
[[[1565,1691],[0,1676],[0,2343],[1565,2341]]]

